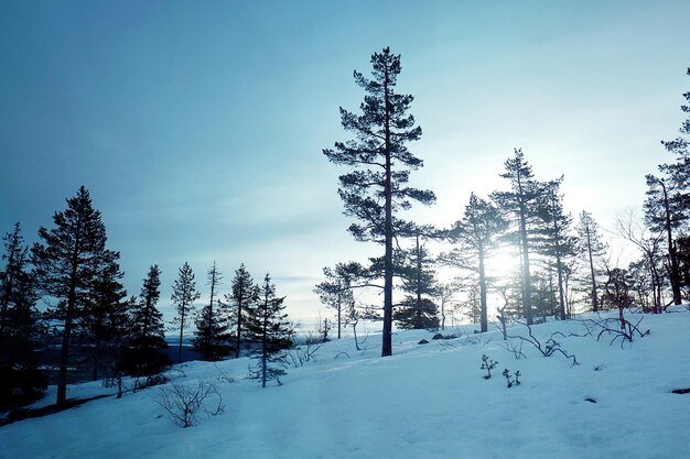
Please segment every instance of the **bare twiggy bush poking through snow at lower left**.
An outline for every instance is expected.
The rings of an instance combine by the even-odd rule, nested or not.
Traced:
[[[213,400],[215,400],[211,405],[213,409],[209,409],[207,404]],[[211,416],[225,411],[223,397],[216,384],[211,381],[200,381],[196,385],[173,384],[163,387],[153,402],[165,411],[170,420],[183,428],[197,425],[197,415],[201,411]]]

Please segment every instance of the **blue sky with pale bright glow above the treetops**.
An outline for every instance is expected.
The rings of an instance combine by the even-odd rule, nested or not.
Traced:
[[[689,88],[687,1],[0,2],[0,232],[29,242],[86,186],[125,285],[162,269],[161,308],[188,262],[208,294],[245,263],[288,312],[320,314],[321,269],[381,249],[352,240],[322,150],[349,139],[385,46],[423,135],[411,184],[449,226],[470,193],[506,188],[521,147],[565,207],[601,226],[639,208],[645,174],[672,160]],[[683,45],[684,43],[684,45]],[[325,309],[321,310],[326,315]]]

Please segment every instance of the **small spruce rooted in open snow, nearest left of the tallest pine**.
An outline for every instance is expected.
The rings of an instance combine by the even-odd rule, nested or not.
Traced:
[[[281,351],[292,347],[293,329],[284,314],[285,297],[276,295],[276,285],[270,274],[266,274],[259,287],[258,302],[249,308],[247,317],[247,340],[257,345],[255,357],[259,360],[255,378],[261,380],[261,387],[267,381],[274,380],[281,384],[280,378],[285,371],[276,365],[284,361]]]

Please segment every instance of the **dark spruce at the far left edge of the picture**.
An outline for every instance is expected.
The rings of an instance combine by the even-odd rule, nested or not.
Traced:
[[[39,370],[37,294],[17,222],[3,238],[0,271],[0,409],[39,398],[47,379]]]

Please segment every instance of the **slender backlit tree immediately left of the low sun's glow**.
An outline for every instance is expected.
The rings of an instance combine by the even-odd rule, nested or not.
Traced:
[[[507,228],[508,222],[500,216],[498,209],[472,193],[462,220],[456,221],[449,231],[449,239],[460,247],[449,254],[448,261],[452,265],[476,273],[478,280],[482,332],[488,330],[486,259],[498,245],[498,237]]]

